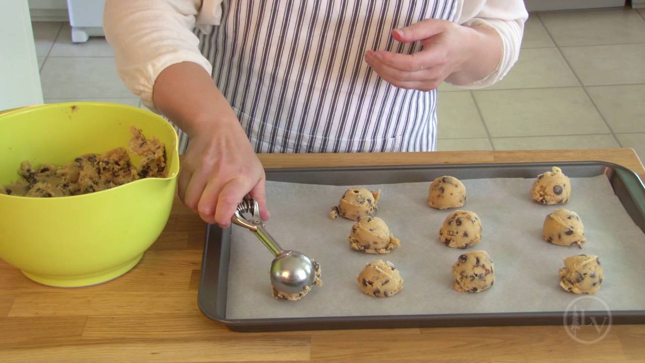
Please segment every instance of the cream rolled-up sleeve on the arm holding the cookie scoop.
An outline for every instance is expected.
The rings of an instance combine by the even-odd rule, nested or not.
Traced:
[[[200,7],[199,0],[106,1],[103,28],[117,72],[146,107],[155,110],[152,89],[166,67],[193,62],[212,72],[192,32]]]

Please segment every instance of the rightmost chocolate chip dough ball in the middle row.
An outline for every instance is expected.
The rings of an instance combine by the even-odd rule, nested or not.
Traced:
[[[582,248],[587,242],[584,237],[584,226],[577,213],[567,209],[556,209],[544,219],[542,236],[550,244]]]

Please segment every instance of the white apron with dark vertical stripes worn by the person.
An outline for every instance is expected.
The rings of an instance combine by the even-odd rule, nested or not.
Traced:
[[[437,90],[395,87],[363,55],[419,51],[392,30],[454,21],[456,2],[226,0],[221,25],[195,32],[255,152],[430,151]]]

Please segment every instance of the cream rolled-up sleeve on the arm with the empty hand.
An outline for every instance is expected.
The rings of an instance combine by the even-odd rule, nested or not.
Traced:
[[[459,24],[485,26],[502,38],[502,56],[497,67],[488,76],[460,88],[484,88],[500,81],[515,65],[520,54],[524,22],[528,12],[522,0],[461,0]]]

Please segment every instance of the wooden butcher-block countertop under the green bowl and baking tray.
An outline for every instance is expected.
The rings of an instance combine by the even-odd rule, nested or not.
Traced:
[[[604,160],[645,177],[631,149],[261,156],[265,167]],[[645,326],[580,344],[562,326],[234,333],[203,316],[204,223],[181,203],[130,273],[58,289],[0,261],[0,362],[645,362]],[[1,236],[0,236],[1,238]],[[584,328],[590,331],[590,328]]]

